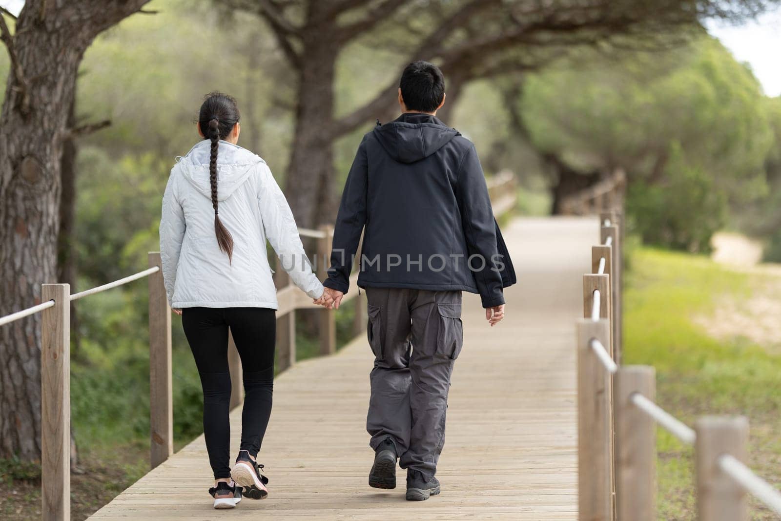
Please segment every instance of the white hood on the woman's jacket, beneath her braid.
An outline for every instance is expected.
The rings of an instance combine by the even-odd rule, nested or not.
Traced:
[[[212,184],[209,180],[209,162],[212,155],[212,142],[208,139],[198,141],[190,152],[177,158],[184,178],[190,181],[205,198],[212,198]],[[263,161],[259,155],[246,148],[219,141],[217,148],[217,200],[224,201],[244,184],[253,168]]]

